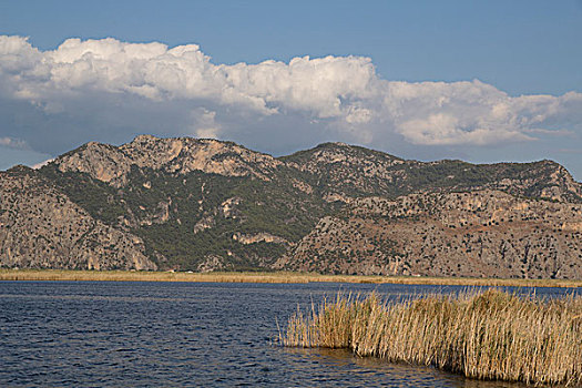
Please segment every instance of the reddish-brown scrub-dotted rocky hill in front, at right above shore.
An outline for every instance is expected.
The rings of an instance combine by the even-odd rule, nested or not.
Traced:
[[[582,205],[484,190],[359,198],[276,267],[382,275],[582,277]]]

